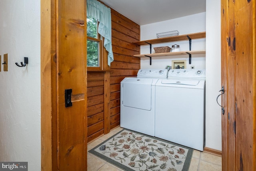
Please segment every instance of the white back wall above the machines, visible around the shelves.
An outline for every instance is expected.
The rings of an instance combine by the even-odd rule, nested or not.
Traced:
[[[147,24],[140,26],[140,40],[156,39],[157,33],[169,32],[178,30],[179,35],[205,32],[205,12],[176,18],[172,20],[166,20],[163,22],[157,22],[153,24]],[[169,46],[178,44],[180,45],[180,51],[189,51],[189,41],[180,42],[166,42],[162,44],[152,44],[152,53],[154,53],[154,47]],[[205,38],[192,40],[191,50],[205,50]],[[149,54],[149,45],[140,46],[141,54]],[[167,65],[172,65],[172,60],[186,60],[187,68],[194,66],[195,68],[205,69],[205,54],[192,55],[191,65],[188,61],[188,55],[182,56],[167,56],[167,57],[154,57],[152,58],[152,65],[149,65],[149,58],[141,58],[140,66],[144,68],[165,68]]]

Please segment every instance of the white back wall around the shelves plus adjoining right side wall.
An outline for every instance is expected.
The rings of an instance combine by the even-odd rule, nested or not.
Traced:
[[[157,33],[178,30],[180,35],[206,31],[206,39],[192,40],[191,50],[206,50],[206,54],[192,55],[192,64],[188,56],[168,56],[141,58],[141,68],[165,68],[172,60],[187,60],[187,68],[206,69],[206,147],[221,151],[221,116],[216,103],[220,89],[220,0],[206,0],[206,12],[147,24],[140,27],[140,40],[155,39]],[[152,45],[153,47],[180,45],[181,51],[189,50],[188,41],[170,42]],[[149,54],[149,46],[140,47],[141,54]]]

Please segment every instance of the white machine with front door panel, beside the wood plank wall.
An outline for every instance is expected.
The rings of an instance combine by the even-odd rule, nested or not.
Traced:
[[[122,80],[120,127],[155,135],[155,84],[167,76],[166,69],[141,69],[137,77]]]

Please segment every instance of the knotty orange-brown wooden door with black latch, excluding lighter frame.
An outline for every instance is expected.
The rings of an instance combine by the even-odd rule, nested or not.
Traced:
[[[60,171],[87,169],[86,0],[57,2],[57,164]],[[65,89],[72,106],[65,107]]]

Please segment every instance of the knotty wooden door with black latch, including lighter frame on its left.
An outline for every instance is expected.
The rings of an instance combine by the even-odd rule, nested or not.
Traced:
[[[86,0],[44,0],[41,12],[42,170],[85,171]]]

